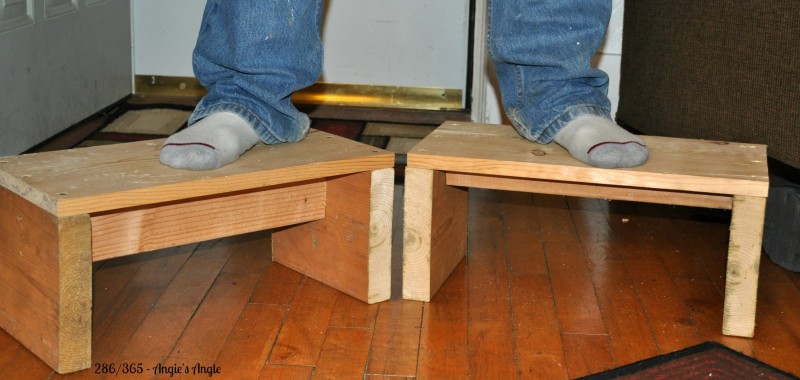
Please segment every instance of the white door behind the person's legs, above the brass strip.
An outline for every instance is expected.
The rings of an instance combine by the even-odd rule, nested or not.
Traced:
[[[131,0],[134,73],[192,77],[205,1]],[[327,0],[321,81],[467,97],[470,0]]]

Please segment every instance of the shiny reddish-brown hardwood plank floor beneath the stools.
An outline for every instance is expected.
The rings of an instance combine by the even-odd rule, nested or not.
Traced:
[[[720,335],[728,213],[471,190],[468,258],[430,303],[398,297],[399,216],[391,301],[271,263],[268,232],[113,259],[95,366],[54,374],[0,331],[0,378],[559,379],[708,340],[800,374],[800,274],[766,256],[755,337]]]

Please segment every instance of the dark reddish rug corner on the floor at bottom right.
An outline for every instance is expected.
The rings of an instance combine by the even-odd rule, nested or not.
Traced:
[[[706,342],[582,379],[798,379],[734,351]]]

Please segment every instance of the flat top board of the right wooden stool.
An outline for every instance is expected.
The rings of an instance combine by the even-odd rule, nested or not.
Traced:
[[[625,169],[583,164],[555,143],[537,144],[508,125],[447,122],[408,153],[422,169],[609,186],[766,197],[765,145],[642,136],[648,162]]]

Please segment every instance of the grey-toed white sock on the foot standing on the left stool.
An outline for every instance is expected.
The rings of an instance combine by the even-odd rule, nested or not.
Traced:
[[[176,169],[216,169],[236,161],[260,141],[239,115],[213,113],[167,138],[161,163]]]

